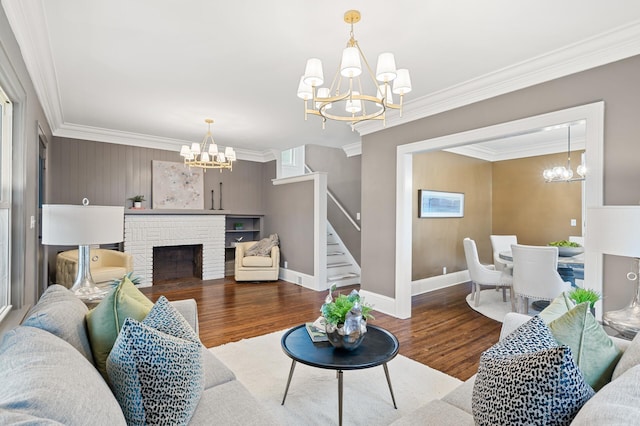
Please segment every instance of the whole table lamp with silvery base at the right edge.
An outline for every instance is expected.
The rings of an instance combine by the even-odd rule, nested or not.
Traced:
[[[640,258],[640,206],[606,206],[587,211],[587,233],[603,254]],[[633,337],[640,331],[640,281],[639,271],[627,274],[636,281],[636,290],[629,306],[617,311],[605,312],[605,324],[625,337]]]

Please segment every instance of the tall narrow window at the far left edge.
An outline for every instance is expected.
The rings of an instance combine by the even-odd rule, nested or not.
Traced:
[[[0,88],[0,321],[11,309],[11,113]]]

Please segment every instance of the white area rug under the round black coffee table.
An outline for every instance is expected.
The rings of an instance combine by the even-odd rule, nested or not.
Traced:
[[[282,352],[285,330],[211,348],[238,380],[282,425],[338,424],[335,370],[297,363],[287,400],[282,403],[291,358]],[[393,408],[382,366],[345,371],[344,425],[388,425],[428,401],[440,398],[461,381],[397,355],[388,364],[398,409]]]

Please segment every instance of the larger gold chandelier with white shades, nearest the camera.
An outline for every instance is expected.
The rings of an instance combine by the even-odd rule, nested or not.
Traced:
[[[396,69],[393,53],[386,52],[378,56],[374,74],[353,35],[353,24],[360,21],[360,12],[357,10],[345,12],[344,21],[351,25],[351,31],[347,47],[342,51],[340,67],[336,70],[331,86],[320,87],[324,83],[324,77],[322,62],[318,58],[307,61],[304,75],[300,78],[298,97],[304,100],[305,120],[308,114],[318,115],[322,117],[323,129],[327,119],[331,119],[348,122],[351,124],[351,130],[354,130],[356,123],[365,120],[382,120],[385,124],[387,108],[400,110],[400,116],[402,116],[404,95],[411,92],[409,70]],[[366,94],[362,87],[361,63],[364,63],[365,71],[369,73],[373,82],[375,96]],[[399,95],[399,103],[393,103],[393,94]],[[311,101],[310,106],[309,101]]]

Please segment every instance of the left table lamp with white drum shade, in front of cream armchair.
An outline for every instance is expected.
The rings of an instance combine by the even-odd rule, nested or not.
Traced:
[[[98,287],[90,269],[90,245],[117,243],[124,239],[124,207],[44,204],[42,244],[78,246],[78,273],[71,287],[85,301],[101,299],[107,289]]]

